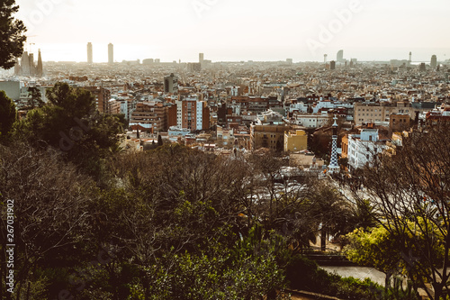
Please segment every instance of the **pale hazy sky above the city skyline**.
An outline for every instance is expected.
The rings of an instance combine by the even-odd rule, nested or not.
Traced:
[[[450,59],[448,0],[16,0],[27,48],[94,62]],[[31,44],[30,43],[34,43]]]

